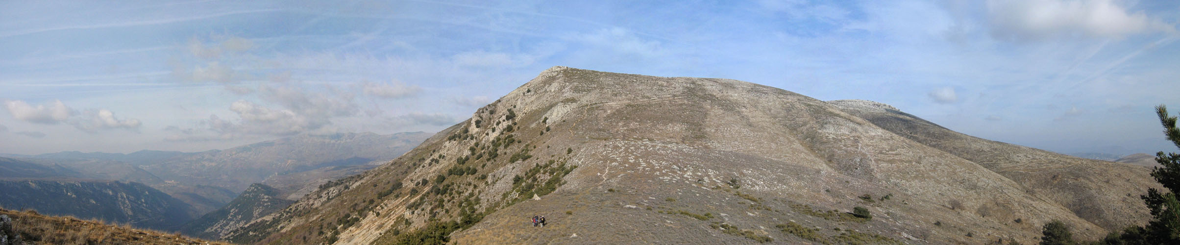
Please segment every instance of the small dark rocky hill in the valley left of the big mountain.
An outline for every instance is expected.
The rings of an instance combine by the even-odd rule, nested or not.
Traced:
[[[179,232],[204,239],[221,239],[230,230],[280,211],[291,203],[295,201],[278,198],[278,190],[263,184],[254,184],[225,207],[205,213],[185,224]]]

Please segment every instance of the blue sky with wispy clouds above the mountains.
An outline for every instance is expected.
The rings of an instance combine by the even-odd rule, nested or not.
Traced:
[[[569,66],[866,99],[1062,153],[1176,151],[1180,1],[0,1],[0,153],[437,132]]]

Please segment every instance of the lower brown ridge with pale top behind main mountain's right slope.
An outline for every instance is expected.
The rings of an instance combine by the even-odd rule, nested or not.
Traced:
[[[892,133],[999,173],[1028,193],[1044,197],[1107,230],[1140,225],[1146,220],[1147,210],[1139,192],[1147,187],[1160,188],[1148,176],[1149,171],[1142,167],[979,139],[879,102],[837,100],[831,104]]]

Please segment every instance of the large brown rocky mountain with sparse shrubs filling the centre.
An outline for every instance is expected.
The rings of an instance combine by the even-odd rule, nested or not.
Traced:
[[[1138,197],[1159,186],[1150,179],[1141,167],[959,135],[874,102],[553,67],[393,161],[225,238],[1032,244],[1050,220],[1087,239],[1142,223]],[[537,214],[549,225],[525,221]]]

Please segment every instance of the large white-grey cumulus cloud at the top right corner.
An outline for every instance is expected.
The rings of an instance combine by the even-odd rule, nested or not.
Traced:
[[[991,34],[1001,39],[1122,38],[1173,28],[1112,0],[990,0]]]

